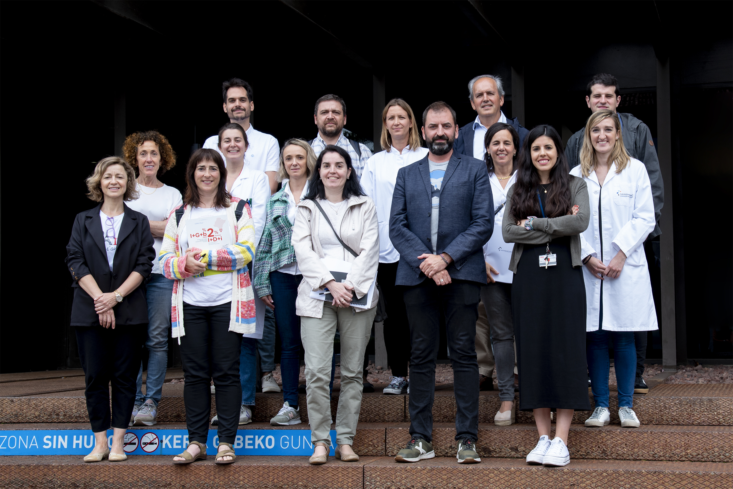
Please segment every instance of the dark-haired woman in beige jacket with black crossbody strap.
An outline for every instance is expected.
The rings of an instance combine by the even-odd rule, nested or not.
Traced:
[[[306,353],[306,399],[314,444],[310,463],[325,463],[331,447],[328,384],[336,328],[341,336],[341,394],[335,455],[352,462],[358,460],[351,445],[361,409],[362,359],[377,310],[377,212],[361,190],[349,154],[338,146],[323,149],[308,187],[298,204],[292,246],[303,274],[295,310],[301,316]],[[332,273],[349,267],[345,276]],[[331,297],[324,301],[312,293]],[[358,302],[361,307],[355,305]]]

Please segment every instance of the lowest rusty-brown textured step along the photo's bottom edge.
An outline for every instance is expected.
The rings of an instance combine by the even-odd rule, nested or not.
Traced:
[[[511,458],[463,466],[452,458],[408,464],[361,457],[310,466],[307,457],[265,456],[239,457],[230,466],[216,466],[213,456],[189,466],[171,462],[169,455],[100,463],[80,456],[0,457],[0,480],[4,488],[733,488],[733,463],[571,459],[549,468]]]

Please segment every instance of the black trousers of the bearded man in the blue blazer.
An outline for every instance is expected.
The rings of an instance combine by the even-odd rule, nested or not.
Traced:
[[[435,398],[435,359],[440,344],[440,315],[445,313],[446,333],[453,365],[456,398],[456,440],[479,436],[479,364],[476,362],[476,319],[481,285],[453,280],[435,285],[426,278],[405,287],[410,320],[410,435],[432,440],[432,402]]]

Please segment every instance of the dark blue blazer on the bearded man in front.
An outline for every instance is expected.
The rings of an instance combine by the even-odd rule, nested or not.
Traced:
[[[417,257],[432,253],[432,184],[427,156],[400,168],[394,184],[389,239],[399,251],[396,285],[418,285],[426,276]],[[482,247],[494,228],[493,195],[486,164],[453,152],[441,184],[437,251],[448,253],[452,280],[486,283]]]

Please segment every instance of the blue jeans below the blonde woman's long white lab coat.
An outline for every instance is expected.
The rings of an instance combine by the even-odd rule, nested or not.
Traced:
[[[586,357],[596,407],[608,408],[608,341],[614,342],[614,367],[619,389],[619,408],[633,403],[636,346],[633,331],[586,332]]]

